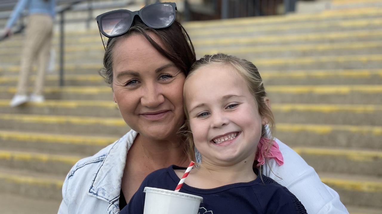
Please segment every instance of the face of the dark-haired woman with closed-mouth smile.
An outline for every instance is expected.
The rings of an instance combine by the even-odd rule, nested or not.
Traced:
[[[184,122],[184,82],[185,74],[143,35],[115,44],[113,96],[127,125],[142,136],[156,140],[175,136]]]

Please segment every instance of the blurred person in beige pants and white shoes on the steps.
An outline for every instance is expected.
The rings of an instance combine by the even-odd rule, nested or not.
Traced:
[[[55,6],[55,0],[19,0],[5,26],[5,35],[11,36],[12,26],[24,9],[28,8],[29,16],[21,53],[19,80],[16,94],[10,102],[11,107],[28,101],[44,101],[44,78],[49,63]],[[33,93],[28,97],[29,73],[36,59],[38,64],[36,82]]]

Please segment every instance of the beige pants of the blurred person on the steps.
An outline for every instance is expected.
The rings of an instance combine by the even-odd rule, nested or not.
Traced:
[[[53,20],[47,14],[32,14],[28,17],[25,44],[21,55],[21,66],[17,94],[27,95],[29,73],[37,60],[37,77],[33,93],[42,95],[44,78],[49,63],[52,43]]]

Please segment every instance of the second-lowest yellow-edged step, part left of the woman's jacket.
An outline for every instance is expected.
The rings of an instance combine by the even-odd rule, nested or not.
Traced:
[[[81,158],[84,157],[30,152],[26,150],[23,152],[0,150],[0,167],[65,176]]]

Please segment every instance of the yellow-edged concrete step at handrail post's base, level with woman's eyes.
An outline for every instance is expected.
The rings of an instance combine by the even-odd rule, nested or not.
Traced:
[[[78,74],[72,74],[72,73]],[[66,86],[107,86],[104,78],[95,71],[65,70],[64,83]],[[85,73],[85,74],[82,74]],[[93,73],[93,74],[86,74]],[[4,74],[2,76],[2,74]],[[382,69],[354,69],[354,70],[293,70],[293,71],[260,71],[265,85],[351,85],[351,84],[379,84],[382,83]],[[30,85],[34,84],[36,75],[31,75]],[[0,73],[2,86],[15,86],[18,72],[3,71]],[[45,77],[46,86],[57,86],[59,74],[50,73]]]

